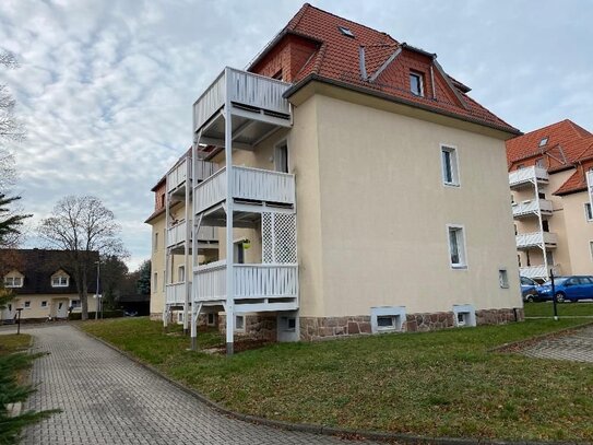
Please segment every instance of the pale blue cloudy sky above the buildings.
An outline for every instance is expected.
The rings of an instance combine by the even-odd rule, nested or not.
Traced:
[[[593,130],[590,0],[324,0],[312,4],[437,52],[474,98],[523,131]],[[135,267],[150,257],[152,186],[191,144],[191,104],[245,68],[293,0],[1,0],[0,70],[27,139],[13,147],[34,224],[70,194],[111,209]],[[29,246],[36,241],[29,237]]]

